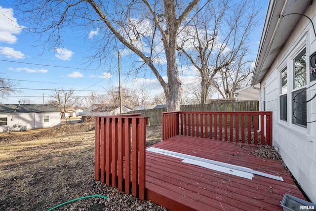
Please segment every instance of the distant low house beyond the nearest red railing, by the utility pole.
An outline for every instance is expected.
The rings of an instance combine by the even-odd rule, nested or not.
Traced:
[[[110,104],[93,104],[87,109],[87,116],[108,116],[119,114],[119,106]],[[122,113],[130,112],[132,109],[123,106]]]

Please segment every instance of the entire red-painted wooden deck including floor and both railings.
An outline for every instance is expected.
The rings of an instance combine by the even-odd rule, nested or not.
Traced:
[[[259,144],[272,144],[272,112],[165,112],[163,141],[151,147],[184,154],[178,158],[146,149],[147,119],[96,117],[96,180],[172,211],[281,211],[283,194],[304,199],[280,162],[251,153]],[[234,169],[223,173],[180,159],[188,156],[195,156],[192,163],[208,159],[284,181],[258,174],[244,178],[243,171],[237,176]]]

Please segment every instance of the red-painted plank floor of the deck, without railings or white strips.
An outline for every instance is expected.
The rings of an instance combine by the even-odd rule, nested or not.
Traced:
[[[281,211],[287,193],[304,199],[278,161],[250,151],[257,145],[176,135],[151,147],[281,176],[284,181],[254,175],[252,180],[181,162],[146,151],[146,198],[172,211]]]

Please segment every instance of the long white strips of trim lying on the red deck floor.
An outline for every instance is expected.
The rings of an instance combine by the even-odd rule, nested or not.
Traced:
[[[156,147],[149,147],[146,150],[149,152],[154,152],[154,153],[182,159],[182,162],[186,164],[192,164],[192,165],[204,167],[207,169],[212,169],[212,170],[220,171],[223,173],[232,174],[232,175],[239,176],[246,179],[252,179],[253,174],[257,174],[257,175],[265,176],[271,179],[283,181],[283,178],[280,176],[275,176],[272,174],[256,171],[256,170],[249,169],[246,167],[236,166],[236,165],[209,160],[205,158],[200,158],[200,157],[196,157],[192,155],[186,155],[186,154],[177,153],[177,152],[173,152],[169,150],[159,149]]]

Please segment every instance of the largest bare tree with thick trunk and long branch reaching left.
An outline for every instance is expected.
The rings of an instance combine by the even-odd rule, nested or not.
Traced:
[[[94,58],[104,60],[114,47],[127,48],[141,58],[164,90],[167,110],[180,108],[181,80],[176,48],[181,25],[199,0],[17,0],[32,26],[50,47],[62,42],[62,29],[69,26],[100,29],[102,39]],[[48,35],[48,36],[46,36]],[[159,66],[166,61],[166,70]],[[167,81],[162,77],[166,74]]]

